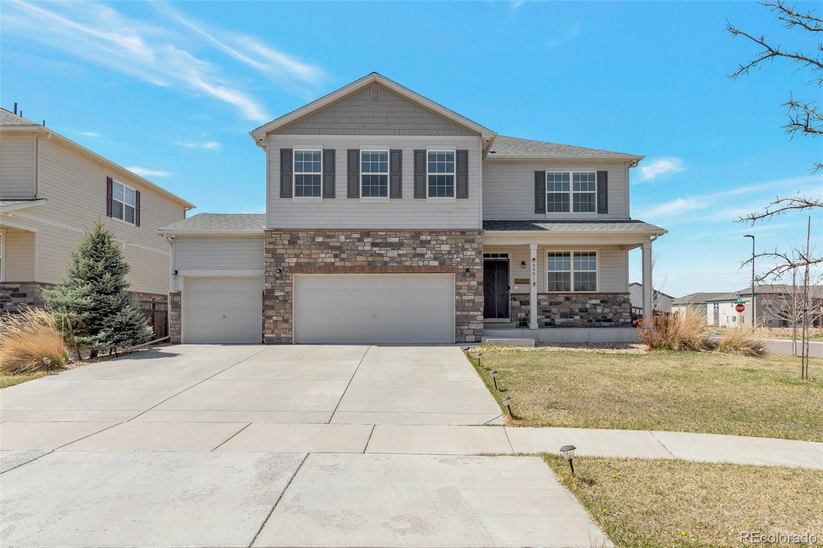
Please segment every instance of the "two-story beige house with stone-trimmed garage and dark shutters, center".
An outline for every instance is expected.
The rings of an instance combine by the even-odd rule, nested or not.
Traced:
[[[625,337],[633,248],[652,313],[666,230],[630,217],[643,156],[499,136],[377,73],[250,133],[266,215],[160,230],[174,239],[173,340],[453,343],[495,326]]]

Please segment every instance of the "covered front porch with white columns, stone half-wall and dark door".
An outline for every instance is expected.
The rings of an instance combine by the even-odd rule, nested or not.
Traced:
[[[629,251],[642,249],[644,318],[652,315],[652,243],[639,221],[486,221],[484,337],[633,341]]]

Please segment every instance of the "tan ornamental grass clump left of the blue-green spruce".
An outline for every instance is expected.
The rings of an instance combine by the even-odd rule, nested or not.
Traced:
[[[45,365],[43,358],[51,358],[51,364]],[[0,373],[34,373],[67,361],[68,350],[51,313],[24,308],[0,316]]]

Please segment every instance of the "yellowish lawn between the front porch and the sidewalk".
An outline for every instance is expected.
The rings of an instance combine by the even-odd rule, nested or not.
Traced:
[[[642,354],[485,346],[481,374],[512,397],[507,424],[823,440],[823,360],[713,352]],[[472,357],[472,363],[476,360]],[[489,369],[497,369],[500,392]]]

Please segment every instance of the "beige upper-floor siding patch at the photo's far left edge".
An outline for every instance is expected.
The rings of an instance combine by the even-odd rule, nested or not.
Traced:
[[[0,197],[34,197],[35,133],[0,132]]]

